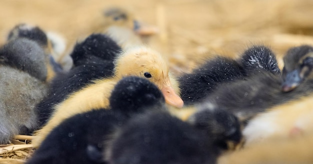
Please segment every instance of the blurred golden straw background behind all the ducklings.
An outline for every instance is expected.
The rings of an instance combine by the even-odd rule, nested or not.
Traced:
[[[103,24],[104,9],[116,6],[158,28],[145,43],[176,72],[211,54],[236,57],[251,44],[278,56],[294,45],[313,45],[313,0],[1,0],[0,43],[23,22],[63,36],[66,54]]]

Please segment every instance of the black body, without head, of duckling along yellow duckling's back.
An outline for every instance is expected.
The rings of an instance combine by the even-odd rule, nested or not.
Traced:
[[[108,63],[110,64],[110,62]],[[111,65],[105,63],[89,63],[73,67],[69,72],[57,74],[51,81],[49,93],[45,99],[36,105],[39,113],[39,124],[43,125],[53,112],[53,106],[67,96],[88,84],[99,76],[111,76]]]

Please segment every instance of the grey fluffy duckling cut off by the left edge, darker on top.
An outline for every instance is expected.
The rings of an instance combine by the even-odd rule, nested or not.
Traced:
[[[37,127],[34,106],[45,97],[46,69],[42,48],[17,38],[0,48],[0,143]]]

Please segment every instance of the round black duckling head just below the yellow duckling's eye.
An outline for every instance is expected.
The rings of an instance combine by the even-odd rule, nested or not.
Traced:
[[[165,104],[158,87],[138,76],[126,76],[119,80],[109,101],[112,109],[121,110],[128,115],[143,112],[146,108],[158,110],[164,108]]]

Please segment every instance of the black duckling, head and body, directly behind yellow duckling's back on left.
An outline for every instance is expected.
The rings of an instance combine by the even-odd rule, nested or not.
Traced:
[[[50,117],[54,104],[97,78],[113,76],[113,60],[121,48],[104,34],[91,34],[77,43],[70,56],[74,67],[58,73],[50,82],[48,97],[37,106],[39,124],[43,125]]]

